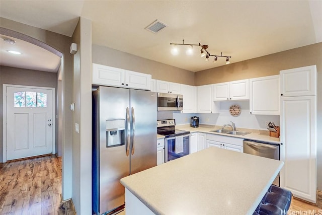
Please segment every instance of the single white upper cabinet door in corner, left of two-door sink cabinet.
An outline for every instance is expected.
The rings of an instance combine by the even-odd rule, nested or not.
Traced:
[[[198,86],[198,113],[212,113],[213,85]]]

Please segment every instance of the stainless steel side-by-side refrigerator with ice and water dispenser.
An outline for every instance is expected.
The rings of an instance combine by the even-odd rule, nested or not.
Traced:
[[[120,179],[156,166],[156,93],[114,87],[93,92],[93,212],[122,207]]]

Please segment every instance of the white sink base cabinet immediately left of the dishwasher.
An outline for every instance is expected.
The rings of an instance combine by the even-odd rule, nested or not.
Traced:
[[[216,134],[207,134],[207,148],[217,147],[235,152],[244,152],[244,139]]]

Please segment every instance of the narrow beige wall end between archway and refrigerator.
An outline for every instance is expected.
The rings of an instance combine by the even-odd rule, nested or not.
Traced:
[[[72,36],[72,200],[77,214],[92,213],[92,24],[81,17]]]

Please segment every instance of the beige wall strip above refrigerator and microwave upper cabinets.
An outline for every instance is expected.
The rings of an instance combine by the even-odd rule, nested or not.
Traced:
[[[151,74],[152,79],[194,85],[195,74],[182,68],[156,62],[104,46],[92,46],[93,63]]]

